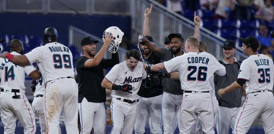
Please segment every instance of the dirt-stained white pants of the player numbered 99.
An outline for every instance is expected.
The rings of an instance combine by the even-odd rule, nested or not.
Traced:
[[[45,110],[47,134],[59,131],[59,119],[63,113],[67,134],[78,130],[78,86],[73,78],[61,78],[46,83]]]

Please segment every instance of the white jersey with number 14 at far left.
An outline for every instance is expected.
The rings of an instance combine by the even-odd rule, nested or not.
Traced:
[[[11,52],[10,54],[21,55],[17,52]],[[0,58],[0,64],[0,88],[4,89],[25,90],[25,73],[29,75],[31,72],[36,70],[33,65],[20,67],[19,65],[12,63],[7,58]]]

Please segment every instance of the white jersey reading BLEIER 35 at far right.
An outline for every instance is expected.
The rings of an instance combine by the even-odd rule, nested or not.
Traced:
[[[247,80],[246,94],[259,90],[272,90],[274,65],[269,56],[251,55],[241,64],[238,79]]]

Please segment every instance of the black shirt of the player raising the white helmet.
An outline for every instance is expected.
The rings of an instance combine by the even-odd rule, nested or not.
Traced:
[[[119,63],[118,53],[112,54],[111,59],[103,58],[96,67],[85,68],[84,64],[88,59],[81,56],[76,60],[76,71],[79,79],[78,103],[81,103],[84,97],[88,102],[106,102],[106,89],[101,86],[104,79],[103,69]]]

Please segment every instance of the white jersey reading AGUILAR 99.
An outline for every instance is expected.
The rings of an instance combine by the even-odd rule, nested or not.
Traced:
[[[72,53],[60,43],[52,42],[34,48],[25,56],[31,64],[37,62],[45,84],[58,78],[69,76],[74,78]]]

